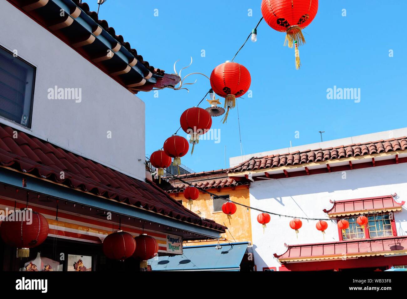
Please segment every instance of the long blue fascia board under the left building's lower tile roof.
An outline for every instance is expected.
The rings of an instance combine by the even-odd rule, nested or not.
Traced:
[[[206,236],[208,238],[218,239],[220,231],[194,225],[192,223],[175,220],[170,217],[166,217],[160,214],[155,214],[144,209],[139,209],[134,206],[125,205],[108,199],[103,199],[98,196],[86,194],[78,190],[74,190],[68,187],[59,186],[55,183],[47,182],[35,177],[24,175],[20,172],[0,168],[0,182],[14,186],[16,188],[22,188],[22,179],[25,178],[27,187],[24,188],[29,191],[46,194],[59,199],[65,199],[75,203],[88,205],[90,207],[99,208],[101,210],[107,210],[112,213],[123,214],[142,220],[159,223],[168,227],[176,229],[190,231],[194,234]]]

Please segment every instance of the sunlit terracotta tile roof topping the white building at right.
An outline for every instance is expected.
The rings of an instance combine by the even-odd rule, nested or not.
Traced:
[[[405,149],[407,149],[406,136],[388,140],[378,140],[375,142],[349,144],[346,146],[341,145],[324,149],[317,148],[314,150],[269,155],[265,157],[252,157],[251,159],[230,168],[228,172],[244,172],[249,170],[306,164],[347,157],[388,153],[392,151],[404,151]]]

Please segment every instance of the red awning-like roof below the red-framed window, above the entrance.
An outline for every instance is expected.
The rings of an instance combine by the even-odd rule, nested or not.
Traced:
[[[287,245],[281,255],[274,253],[280,262],[334,260],[363,256],[407,253],[407,236],[348,240],[338,242]]]

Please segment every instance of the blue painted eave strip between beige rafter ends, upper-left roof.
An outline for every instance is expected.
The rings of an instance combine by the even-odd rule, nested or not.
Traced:
[[[71,0],[50,0],[53,1],[58,7],[61,7],[61,9],[63,9],[66,13],[69,14],[70,9],[77,7],[76,4],[74,4],[74,2],[72,2]],[[79,9],[81,9],[79,7]],[[77,17],[77,18],[73,18],[74,22],[79,23],[83,28],[85,28],[90,34],[93,35],[92,33],[92,26],[100,26],[99,24],[97,24],[85,11],[83,11],[81,9],[81,14]],[[102,33],[98,36],[94,37],[96,39],[98,39],[99,41],[101,41],[107,48],[111,49],[112,48],[112,44],[118,42],[114,37],[112,37],[112,35],[110,35],[105,29],[103,29],[102,26],[100,26],[102,28]],[[120,57],[120,59],[122,59],[125,63],[128,64],[128,61],[135,58],[133,54],[131,54],[131,52],[129,50],[127,50],[124,46],[120,47],[120,50],[118,52],[114,53],[115,55],[117,55],[118,57]],[[143,71],[140,70],[140,67],[143,68],[143,70],[145,71],[149,71],[147,70],[147,68],[144,67],[144,65],[139,65],[138,63],[136,65],[134,65],[132,67],[133,70],[135,70],[136,72],[138,72],[138,74],[140,74],[143,78],[144,78],[144,74]],[[153,74],[153,76],[150,79],[146,79],[147,82],[149,83],[157,83],[157,77],[160,77],[156,74]]]

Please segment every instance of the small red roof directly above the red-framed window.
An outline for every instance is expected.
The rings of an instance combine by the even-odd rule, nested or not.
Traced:
[[[396,196],[397,194],[394,194]],[[333,207],[330,210],[323,211],[329,217],[358,215],[366,212],[394,212],[401,211],[401,206],[405,201],[398,203],[393,195],[367,197],[360,199],[348,199],[345,201],[330,201]]]

